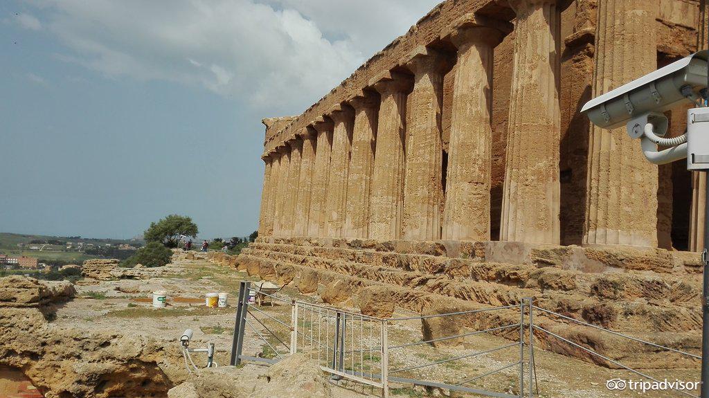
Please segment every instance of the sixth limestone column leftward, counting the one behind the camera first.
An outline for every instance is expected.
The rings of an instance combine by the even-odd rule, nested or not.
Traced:
[[[350,105],[354,108],[354,130],[347,178],[347,212],[342,236],[367,238],[379,96],[371,93],[357,96],[352,98]]]

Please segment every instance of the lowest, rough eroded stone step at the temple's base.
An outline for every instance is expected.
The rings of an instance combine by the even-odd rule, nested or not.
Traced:
[[[354,268],[335,267],[328,268],[329,261],[303,261],[298,262],[296,257],[291,257],[291,261],[277,260],[277,252],[258,251],[246,249],[235,261],[218,260],[219,262],[233,265],[239,269],[247,271],[250,275],[258,275],[266,280],[277,280],[281,283],[295,278],[316,279],[320,286],[334,283],[337,280],[345,281],[352,292],[356,295],[359,290],[367,286],[380,286],[386,288],[388,297],[397,307],[408,309],[413,312],[423,312],[432,307],[455,308],[456,310],[481,309],[490,307],[474,300],[463,300],[450,295],[430,292],[420,288],[398,285],[390,280],[378,280],[376,274],[352,275],[347,270]],[[285,259],[285,257],[282,257]],[[374,278],[372,278],[374,276]],[[501,303],[502,304],[502,303]],[[546,307],[542,302],[537,303],[540,307]],[[565,313],[566,314],[566,313]],[[691,358],[679,354],[661,351],[641,343],[636,343],[627,339],[603,333],[589,326],[582,326],[563,321],[562,319],[552,319],[544,314],[536,314],[535,319],[538,326],[552,331],[554,334],[563,336],[566,339],[581,343],[587,348],[591,348],[609,358],[618,360],[625,365],[637,369],[653,368],[691,368],[698,363]],[[519,312],[513,309],[504,309],[495,312],[479,312],[469,314],[463,320],[465,326],[471,329],[489,329],[497,326],[504,326],[519,322]],[[518,339],[516,331],[498,331],[499,334],[508,339]],[[654,341],[684,351],[693,353],[700,349],[700,334],[696,331],[682,332],[656,332],[650,329],[637,328],[628,334],[639,339]],[[566,356],[580,358],[599,365],[615,368],[613,363],[608,363],[598,356],[593,356],[567,343],[559,341],[547,334],[537,332],[535,334],[535,344],[544,349],[562,353]]]

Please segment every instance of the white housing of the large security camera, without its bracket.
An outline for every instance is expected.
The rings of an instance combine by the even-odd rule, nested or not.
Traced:
[[[581,112],[585,112],[593,124],[610,130],[645,113],[664,112],[682,102],[696,101],[707,86],[708,56],[709,52],[703,50],[679,59],[593,98]]]

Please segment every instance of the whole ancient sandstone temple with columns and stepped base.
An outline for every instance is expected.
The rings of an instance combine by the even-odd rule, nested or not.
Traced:
[[[705,181],[579,110],[698,50],[704,6],[442,2],[301,115],[264,120],[259,239],[242,260],[383,285],[415,311],[535,297],[695,341]],[[684,110],[668,115],[682,134]]]

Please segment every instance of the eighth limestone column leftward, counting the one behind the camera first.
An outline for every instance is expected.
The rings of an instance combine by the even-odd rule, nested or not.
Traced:
[[[318,132],[315,162],[313,164],[313,183],[311,186],[311,207],[308,215],[308,236],[324,237],[325,198],[327,197],[328,177],[330,176],[330,152],[333,146],[333,123],[318,118],[313,124]]]

